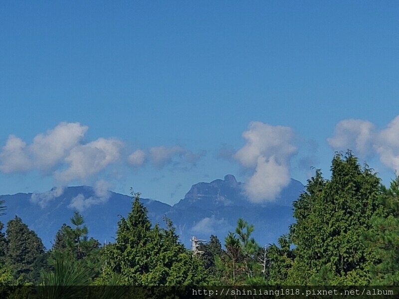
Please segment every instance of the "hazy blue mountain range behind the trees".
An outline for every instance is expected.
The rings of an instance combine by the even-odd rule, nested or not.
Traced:
[[[253,236],[259,244],[276,242],[288,232],[293,221],[292,201],[298,198],[304,186],[291,179],[274,202],[262,205],[249,202],[242,193],[242,186],[233,175],[226,175],[224,180],[193,185],[185,198],[173,207],[157,200],[143,198],[141,201],[148,208],[152,223],[162,226],[165,216],[172,219],[187,247],[193,235],[208,239],[214,234],[223,242],[228,231],[235,229],[239,217],[255,225]],[[128,195],[111,191],[99,194],[88,186],[53,188],[39,194],[17,193],[4,195],[2,199],[7,214],[0,216],[0,221],[6,223],[15,215],[19,216],[47,248],[51,247],[61,225],[70,224],[75,208],[83,209],[89,235],[103,243],[105,240],[113,242],[120,215],[126,217],[132,207],[132,198]]]

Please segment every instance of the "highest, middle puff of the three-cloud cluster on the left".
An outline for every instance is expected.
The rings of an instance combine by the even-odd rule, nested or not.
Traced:
[[[63,122],[46,134],[38,134],[29,147],[35,164],[44,170],[51,169],[79,144],[87,130],[79,123]]]

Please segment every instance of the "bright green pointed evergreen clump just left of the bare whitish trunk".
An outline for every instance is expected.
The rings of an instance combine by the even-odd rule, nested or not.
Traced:
[[[170,220],[167,228],[151,228],[147,209],[135,200],[127,219],[118,223],[114,244],[104,249],[105,267],[97,284],[118,275],[123,284],[142,286],[199,285],[205,281],[202,263],[178,242]]]

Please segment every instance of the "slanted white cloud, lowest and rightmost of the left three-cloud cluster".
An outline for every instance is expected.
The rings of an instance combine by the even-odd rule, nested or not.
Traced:
[[[65,157],[65,162],[70,164],[69,168],[56,172],[56,177],[62,182],[68,182],[98,173],[119,158],[122,146],[123,143],[117,139],[104,138],[77,146]]]

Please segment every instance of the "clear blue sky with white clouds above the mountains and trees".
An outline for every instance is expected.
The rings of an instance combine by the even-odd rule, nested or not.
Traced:
[[[175,203],[231,173],[271,200],[353,149],[399,168],[397,1],[12,1],[0,193],[97,185]]]

